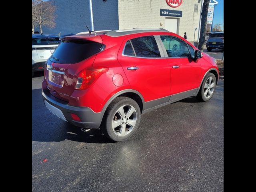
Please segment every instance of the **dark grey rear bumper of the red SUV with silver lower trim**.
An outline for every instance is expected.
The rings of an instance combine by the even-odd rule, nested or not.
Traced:
[[[65,101],[52,96],[48,90],[42,90],[42,97],[47,102],[44,102],[46,107],[62,120],[82,128],[100,127],[103,112],[95,113],[88,107],[70,106]],[[73,120],[70,115],[71,113],[76,114],[81,119],[81,122]]]

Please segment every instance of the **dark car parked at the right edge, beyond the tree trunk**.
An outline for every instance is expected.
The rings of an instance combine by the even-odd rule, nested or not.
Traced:
[[[206,48],[208,51],[211,51],[212,49],[224,49],[224,32],[210,34],[206,41]]]

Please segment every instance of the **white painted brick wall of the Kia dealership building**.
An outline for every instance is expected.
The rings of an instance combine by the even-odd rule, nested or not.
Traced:
[[[198,4],[198,12],[194,12],[195,4]],[[182,11],[182,17],[174,17],[180,18],[178,34],[183,37],[186,32],[187,40],[194,40],[194,30],[199,27],[201,10],[201,2],[198,3],[198,0],[183,0],[177,8],[168,6],[166,0],[118,0],[119,29],[165,28],[166,16],[160,16],[160,9]],[[198,29],[195,41],[197,36]]]

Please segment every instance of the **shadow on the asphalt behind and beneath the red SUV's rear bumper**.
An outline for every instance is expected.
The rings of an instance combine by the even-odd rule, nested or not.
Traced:
[[[112,143],[99,129],[84,132],[81,128],[54,116],[45,106],[42,89],[32,90],[32,141],[60,142],[72,140],[86,143]]]

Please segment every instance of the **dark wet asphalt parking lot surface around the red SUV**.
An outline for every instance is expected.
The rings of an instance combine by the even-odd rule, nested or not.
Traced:
[[[46,109],[42,76],[32,78],[32,191],[223,191],[223,86],[142,116],[125,142],[83,132]]]

